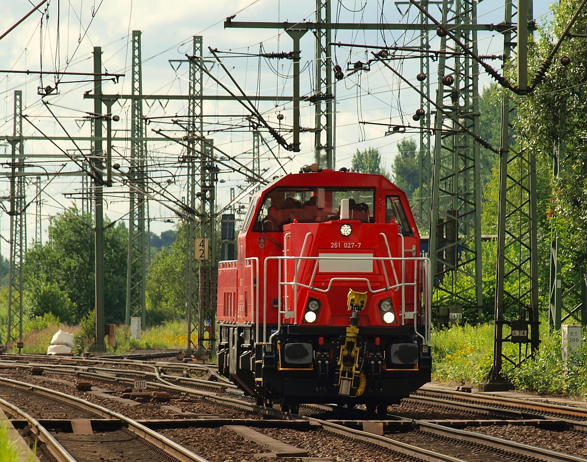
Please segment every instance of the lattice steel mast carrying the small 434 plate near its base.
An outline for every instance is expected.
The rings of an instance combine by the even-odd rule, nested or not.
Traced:
[[[531,1],[531,0],[530,0]],[[518,88],[527,89],[528,3],[518,1],[518,33],[512,32],[512,3],[505,2],[504,68],[512,49],[518,49]],[[502,93],[500,200],[498,204],[497,275],[495,284],[495,346],[488,380],[481,390],[510,389],[502,377],[504,360],[514,366],[527,360],[539,345],[538,238],[536,165],[522,141],[512,143],[514,133],[509,90]],[[504,329],[505,328],[505,329]],[[504,353],[504,343],[518,343],[518,355]],[[525,351],[522,351],[525,345]],[[528,345],[530,351],[528,351]]]

